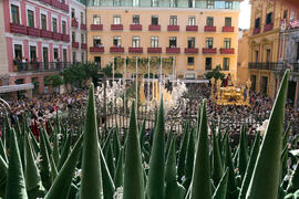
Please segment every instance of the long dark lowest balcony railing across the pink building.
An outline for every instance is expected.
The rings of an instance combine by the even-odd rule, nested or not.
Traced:
[[[69,67],[69,62],[16,62],[13,61],[13,72],[51,72],[62,71]]]

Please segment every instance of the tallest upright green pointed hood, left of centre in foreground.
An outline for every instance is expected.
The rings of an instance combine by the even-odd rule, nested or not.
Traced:
[[[82,178],[80,199],[103,199],[96,113],[94,106],[93,84],[89,91],[89,102],[85,119],[85,132],[82,153]]]

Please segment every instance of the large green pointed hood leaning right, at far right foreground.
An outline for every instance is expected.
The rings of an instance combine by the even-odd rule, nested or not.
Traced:
[[[248,199],[277,198],[278,195],[281,138],[283,133],[289,73],[289,70],[285,72],[270,114],[269,125],[264,135],[252,178],[246,195]]]

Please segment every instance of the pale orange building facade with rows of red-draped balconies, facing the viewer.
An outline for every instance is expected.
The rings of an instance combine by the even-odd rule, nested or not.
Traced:
[[[87,6],[89,61],[174,57],[176,77],[204,78],[220,65],[236,78],[239,1],[111,2]]]

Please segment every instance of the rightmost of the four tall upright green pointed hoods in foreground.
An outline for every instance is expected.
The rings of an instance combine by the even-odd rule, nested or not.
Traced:
[[[209,171],[208,126],[206,101],[204,101],[190,185],[190,199],[212,199]]]

